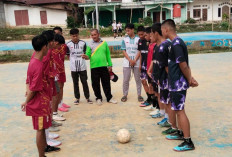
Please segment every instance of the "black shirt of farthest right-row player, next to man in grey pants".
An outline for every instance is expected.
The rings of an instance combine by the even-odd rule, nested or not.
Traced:
[[[149,42],[147,42],[146,39],[144,40],[139,39],[138,50],[141,52],[141,56],[142,56],[141,67],[143,71],[147,70],[148,45],[149,45]]]

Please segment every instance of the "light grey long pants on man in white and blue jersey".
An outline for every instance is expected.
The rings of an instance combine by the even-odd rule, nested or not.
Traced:
[[[138,96],[141,95],[141,79],[140,79],[140,71],[138,67],[123,67],[123,95],[127,96],[129,91],[129,83],[131,78],[131,71],[134,73],[134,78],[137,87]]]

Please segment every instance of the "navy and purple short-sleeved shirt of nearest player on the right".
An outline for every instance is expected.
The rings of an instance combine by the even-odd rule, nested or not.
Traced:
[[[168,58],[169,91],[183,91],[189,88],[189,83],[179,67],[179,63],[182,62],[189,65],[188,50],[184,41],[176,37],[171,43]]]

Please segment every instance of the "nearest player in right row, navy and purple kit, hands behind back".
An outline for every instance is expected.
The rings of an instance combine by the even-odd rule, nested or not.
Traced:
[[[184,106],[187,89],[190,86],[198,86],[198,82],[192,77],[187,46],[177,36],[175,22],[171,19],[165,20],[161,29],[163,36],[171,40],[171,49],[168,55],[168,82],[171,107],[177,115],[179,129],[176,133],[167,135],[166,138],[184,140],[180,145],[174,147],[175,151],[194,150],[195,147],[190,136],[190,123]]]

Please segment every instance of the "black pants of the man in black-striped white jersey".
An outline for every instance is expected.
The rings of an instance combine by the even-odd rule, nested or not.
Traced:
[[[83,91],[86,99],[89,99],[89,86],[87,83],[87,71],[78,71],[78,72],[71,72],[73,78],[73,87],[74,87],[74,95],[76,99],[80,99],[80,91],[79,91],[79,77],[81,79],[81,83],[83,86]]]

